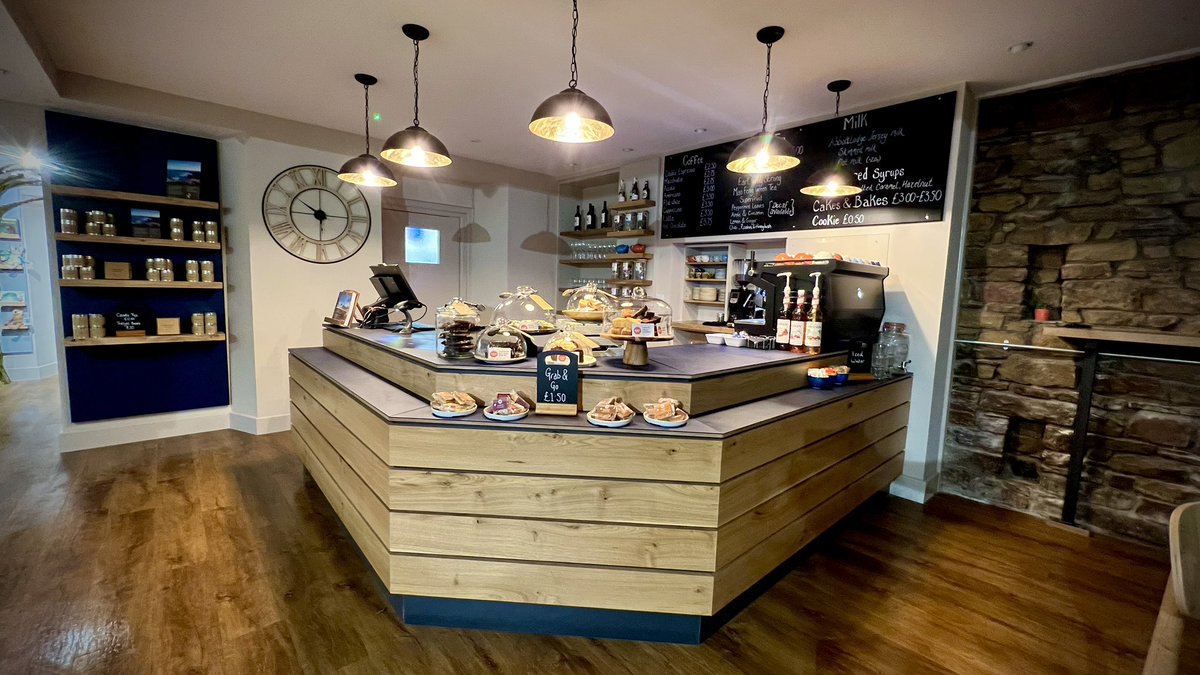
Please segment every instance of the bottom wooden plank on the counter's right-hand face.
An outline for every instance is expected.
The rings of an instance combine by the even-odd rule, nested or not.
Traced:
[[[810,510],[804,518],[792,521],[755,549],[718,569],[712,611],[720,611],[730,601],[766,577],[854,507],[886,488],[900,476],[902,468],[904,455],[892,458],[887,464]]]

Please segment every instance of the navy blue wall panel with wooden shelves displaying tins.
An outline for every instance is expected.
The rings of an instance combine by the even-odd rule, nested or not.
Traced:
[[[46,113],[50,153],[76,169],[52,177],[54,244],[64,255],[95,258],[101,279],[59,279],[58,334],[65,350],[60,370],[70,406],[70,422],[85,423],[144,414],[180,412],[229,405],[229,353],[224,331],[217,335],[113,336],[116,315],[131,313],[154,333],[156,318],[190,323],[194,313],[215,313],[226,325],[224,256],[221,243],[176,241],[133,235],[133,209],[157,211],[163,232],[172,217],[181,219],[190,234],[194,221],[216,221],[221,232],[217,143],[185,136],[62,113]],[[187,177],[168,178],[168,162],[198,163]],[[178,165],[172,171],[176,171]],[[170,196],[190,180],[199,198]],[[191,190],[188,190],[191,191]],[[77,213],[80,228],[86,211],[113,215],[116,237],[61,232],[62,209]],[[222,239],[223,232],[221,232]],[[179,281],[102,279],[104,263],[128,263],[137,275],[146,258],[168,258]],[[214,281],[184,281],[185,262],[212,263]],[[106,317],[109,336],[73,340],[72,315]],[[91,350],[80,347],[160,345],[157,348]],[[186,387],[164,387],[186,382]],[[102,395],[97,386],[119,384],[120,395]]]

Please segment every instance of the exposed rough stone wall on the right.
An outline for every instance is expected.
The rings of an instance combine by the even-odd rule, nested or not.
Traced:
[[[959,339],[1070,348],[1037,306],[1200,335],[1200,59],[983,101],[965,261]],[[942,489],[1057,518],[1078,370],[958,345]],[[1088,447],[1080,524],[1164,543],[1200,498],[1200,365],[1102,358]]]

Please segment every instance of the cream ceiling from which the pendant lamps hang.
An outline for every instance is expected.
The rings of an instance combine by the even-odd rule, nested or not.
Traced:
[[[412,118],[413,49],[400,26],[420,23],[432,32],[421,46],[421,124],[454,155],[554,177],[756,130],[766,50],[755,32],[768,24],[787,30],[772,64],[772,124],[781,125],[832,115],[826,83],[838,78],[854,83],[842,95],[848,110],[1200,47],[1194,0],[582,0],[580,88],[605,104],[617,135],[572,147],[526,130],[534,107],[566,85],[565,0],[4,1],[58,71],[334,130],[361,130],[353,73],[373,73],[376,138]],[[1021,41],[1033,48],[1010,54]],[[36,60],[10,52],[0,47],[0,68],[13,71],[0,76],[0,96],[43,97],[36,82],[13,91],[32,82]]]

